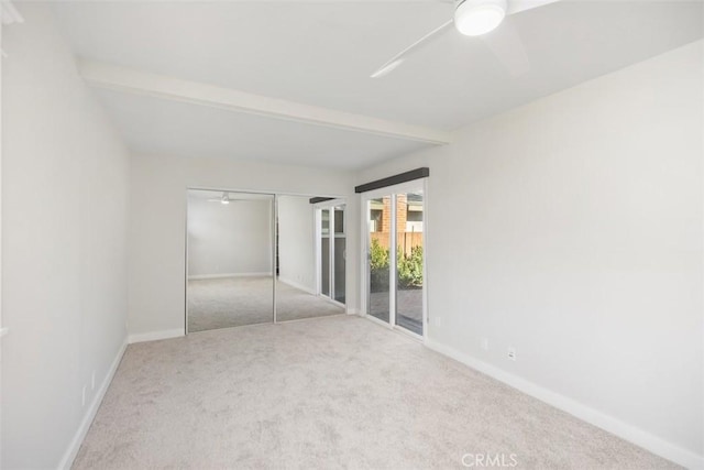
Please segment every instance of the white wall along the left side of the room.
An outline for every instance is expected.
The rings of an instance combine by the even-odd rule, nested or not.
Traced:
[[[46,6],[16,7],[26,22],[2,39],[1,467],[56,468],[125,341],[129,155]]]

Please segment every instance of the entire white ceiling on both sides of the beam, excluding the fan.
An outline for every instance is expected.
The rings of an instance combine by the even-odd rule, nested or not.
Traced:
[[[513,76],[454,30],[369,75],[451,18],[425,2],[64,1],[77,56],[332,110],[454,130],[701,39],[701,1],[562,0],[507,18],[530,70]],[[501,28],[492,34],[501,34]],[[428,144],[97,91],[138,151],[359,168]]]

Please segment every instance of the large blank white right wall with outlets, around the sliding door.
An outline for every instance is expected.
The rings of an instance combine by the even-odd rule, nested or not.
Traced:
[[[430,345],[696,467],[703,57],[688,45],[358,175],[430,166]]]

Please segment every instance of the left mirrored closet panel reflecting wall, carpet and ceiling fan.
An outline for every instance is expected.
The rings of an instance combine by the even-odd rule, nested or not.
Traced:
[[[188,332],[273,321],[274,196],[188,192]]]

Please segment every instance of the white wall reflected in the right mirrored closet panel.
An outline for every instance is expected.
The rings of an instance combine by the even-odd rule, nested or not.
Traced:
[[[309,196],[278,197],[279,278],[316,291],[315,212]]]

